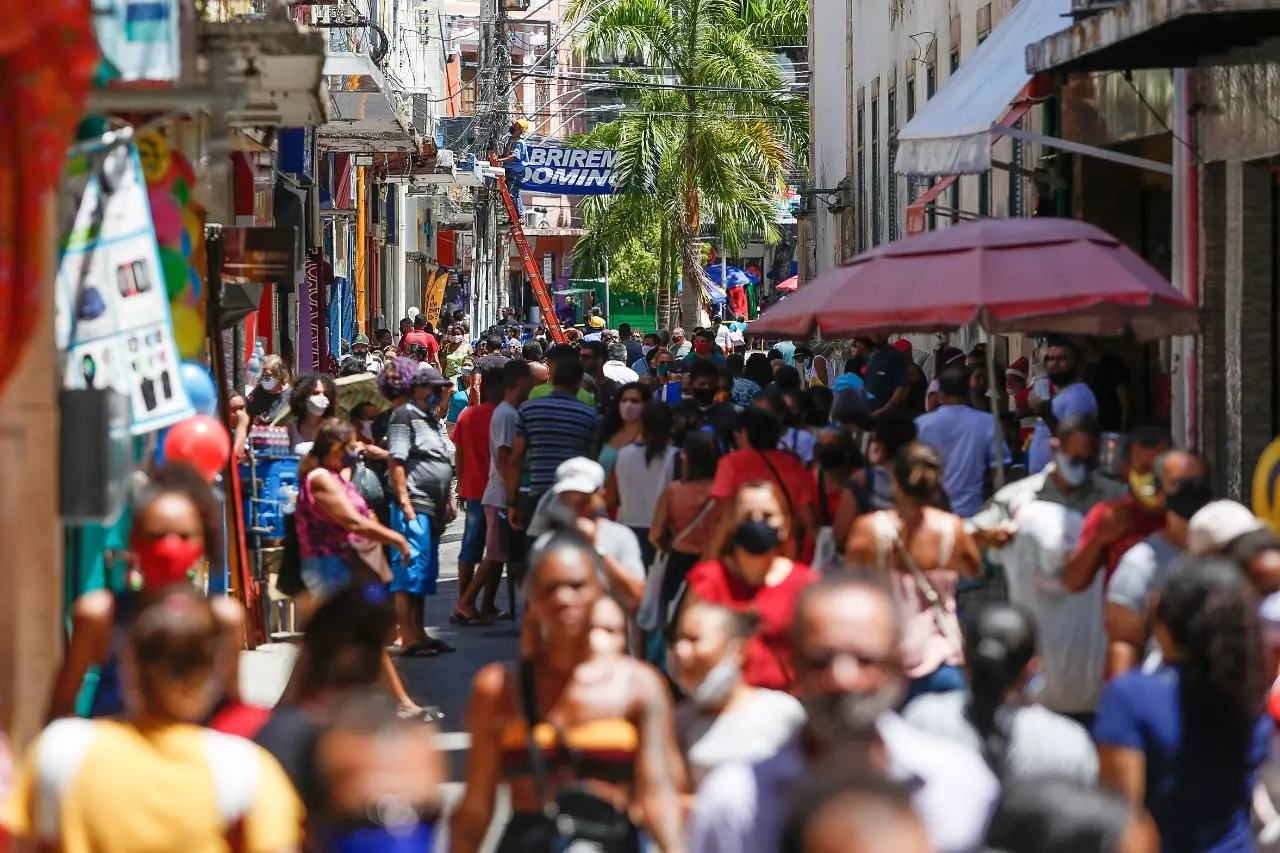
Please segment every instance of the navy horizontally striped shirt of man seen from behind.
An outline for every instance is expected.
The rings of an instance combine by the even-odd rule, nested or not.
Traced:
[[[553,391],[525,401],[516,421],[516,435],[525,439],[525,470],[529,491],[541,494],[556,483],[556,469],[575,456],[595,459],[600,418],[594,406],[573,394]]]

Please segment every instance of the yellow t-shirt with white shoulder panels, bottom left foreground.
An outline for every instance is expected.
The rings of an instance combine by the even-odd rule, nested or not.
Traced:
[[[61,853],[280,853],[302,803],[255,743],[173,724],[58,720],[27,749],[4,808],[10,834]]]

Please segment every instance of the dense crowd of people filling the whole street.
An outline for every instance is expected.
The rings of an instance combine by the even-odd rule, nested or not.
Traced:
[[[424,601],[461,517],[451,621],[518,617],[521,638],[475,674],[457,853],[490,849],[503,786],[503,853],[1280,836],[1280,539],[1217,500],[1193,450],[1130,423],[1123,365],[1092,342],[1001,370],[980,346],[916,359],[886,336],[846,359],[756,346],[732,320],[686,337],[593,315],[570,343],[507,321],[472,339],[458,315],[401,330],[340,365],[375,373],[384,405],[339,419],[330,377],[269,357],[241,410],[283,416],[302,456],[306,628],[280,703],[239,701],[242,615],[188,578],[221,547],[212,496],[163,470],[134,508],[136,583],[76,602],[12,834],[431,849],[439,715],[394,657],[453,651]],[[1125,429],[1102,470],[1102,434]]]

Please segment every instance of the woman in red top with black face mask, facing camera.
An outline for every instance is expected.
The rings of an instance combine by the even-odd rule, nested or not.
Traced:
[[[742,662],[742,679],[751,686],[792,686],[791,617],[801,590],[818,579],[792,558],[796,548],[791,511],[778,487],[768,480],[745,483],[713,535],[716,557],[694,566],[686,580],[691,599],[759,619]]]

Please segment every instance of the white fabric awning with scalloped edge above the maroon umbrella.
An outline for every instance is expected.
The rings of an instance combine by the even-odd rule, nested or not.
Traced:
[[[1032,74],[1027,45],[1062,28],[1071,0],[1021,0],[897,134],[897,174],[991,168],[991,134]]]

